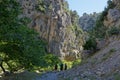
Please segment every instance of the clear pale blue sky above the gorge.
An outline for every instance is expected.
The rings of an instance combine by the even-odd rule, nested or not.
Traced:
[[[107,5],[107,0],[66,0],[70,10],[76,10],[80,16],[83,13],[101,12]]]

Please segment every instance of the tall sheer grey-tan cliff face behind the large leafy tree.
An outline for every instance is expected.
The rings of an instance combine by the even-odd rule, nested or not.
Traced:
[[[18,0],[23,14],[29,17],[29,27],[36,29],[39,37],[48,42],[48,51],[64,58],[77,58],[82,50],[83,36],[76,36],[72,29],[71,16],[65,11],[64,0]]]

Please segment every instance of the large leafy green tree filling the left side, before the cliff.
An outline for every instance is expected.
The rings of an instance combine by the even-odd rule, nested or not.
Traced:
[[[45,61],[46,43],[37,38],[35,30],[26,27],[27,18],[18,18],[20,13],[16,0],[0,1],[0,67],[4,72],[3,62],[13,71],[30,70],[33,66],[42,66]]]

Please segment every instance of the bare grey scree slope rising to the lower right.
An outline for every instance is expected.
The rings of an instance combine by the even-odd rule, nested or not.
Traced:
[[[64,74],[60,80],[119,80],[120,79],[120,36],[111,37],[110,43],[84,64]]]

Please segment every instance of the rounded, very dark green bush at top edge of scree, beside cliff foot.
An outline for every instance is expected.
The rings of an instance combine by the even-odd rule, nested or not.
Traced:
[[[95,38],[89,38],[85,45],[83,46],[85,50],[96,50],[97,48],[97,43],[96,43],[96,40]]]

